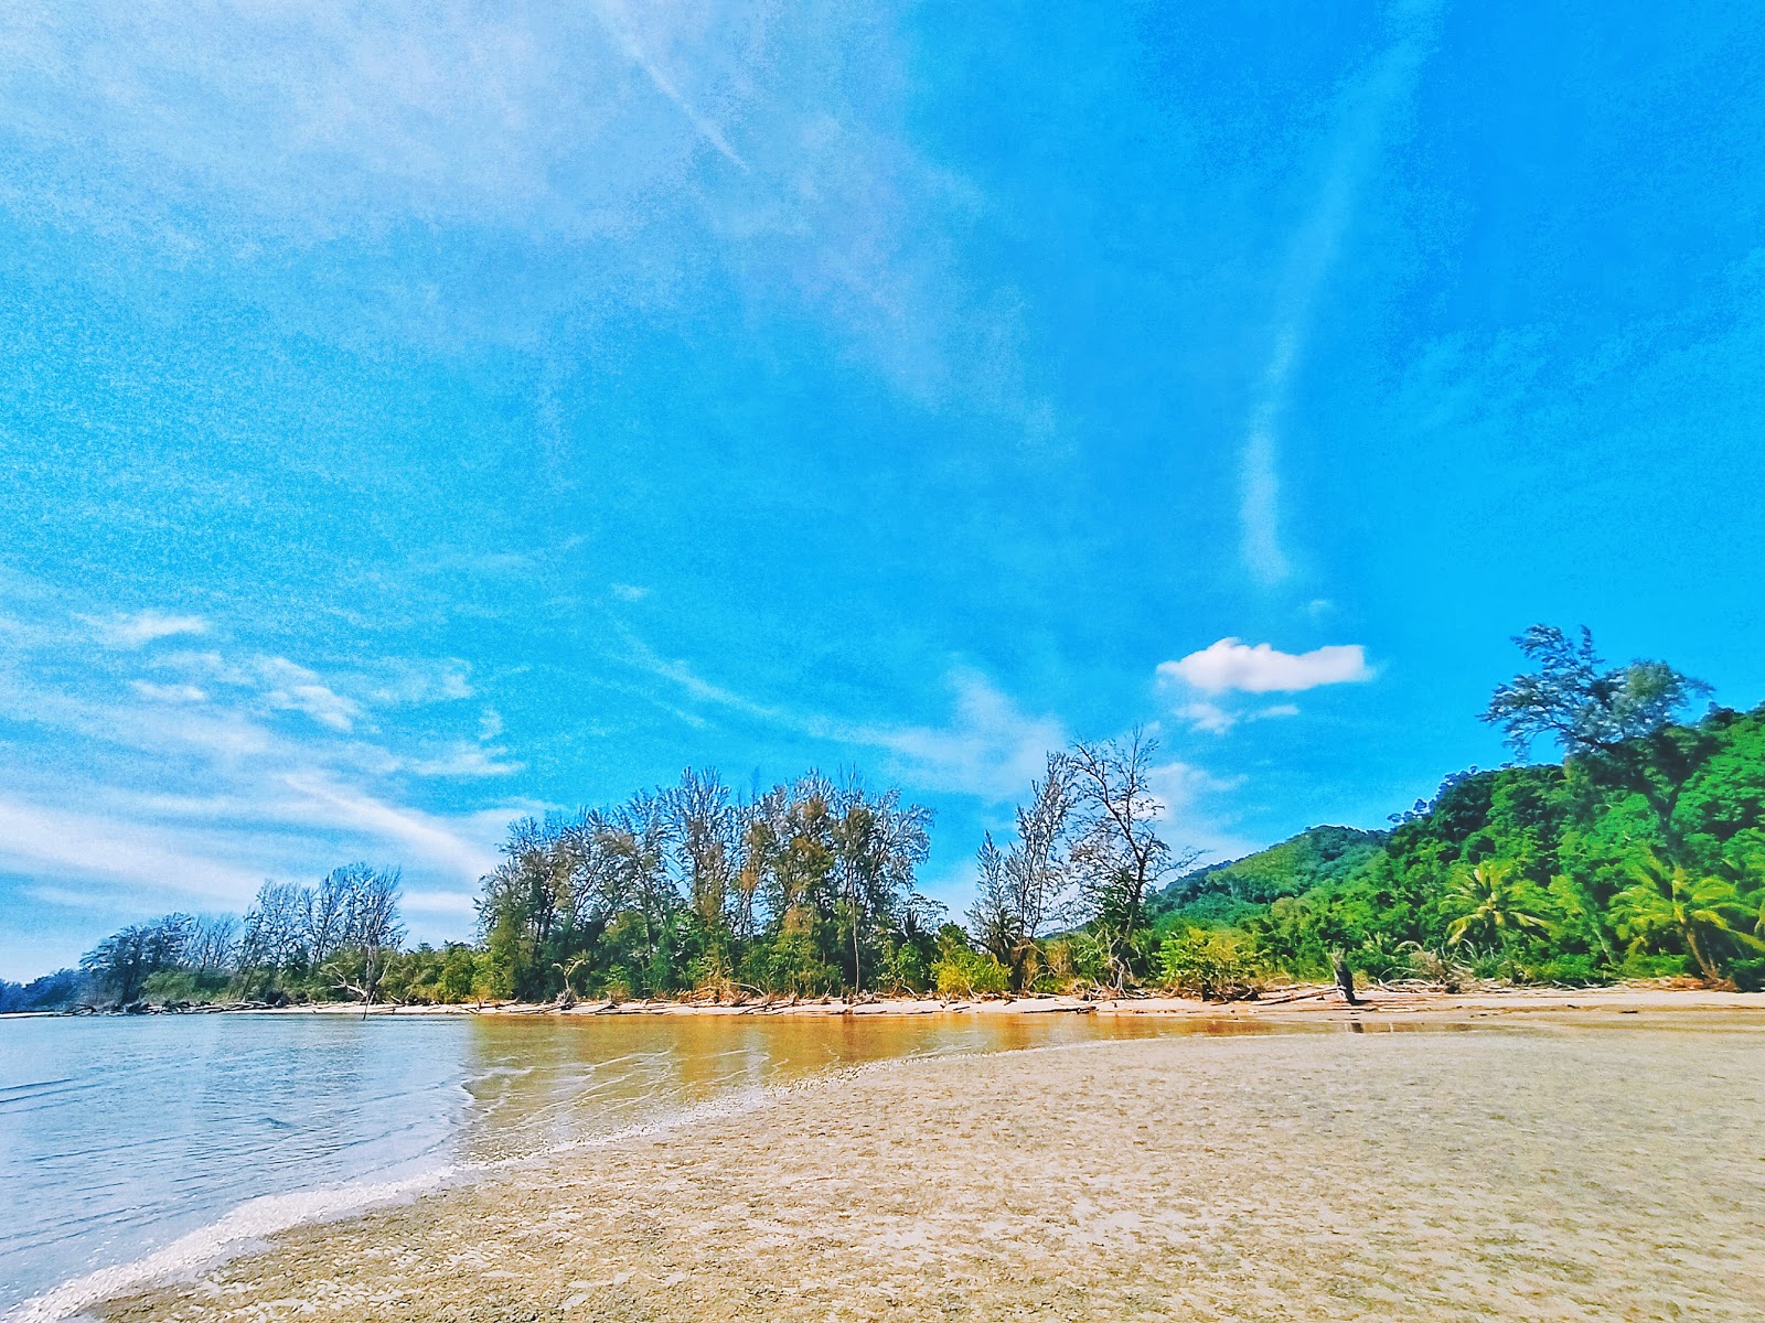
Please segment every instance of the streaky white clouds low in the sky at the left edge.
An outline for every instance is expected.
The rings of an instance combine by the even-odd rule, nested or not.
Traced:
[[[194,633],[168,619],[65,616],[0,651],[0,718],[42,736],[0,744],[0,871],[113,916],[238,908],[267,877],[351,857],[404,863],[420,889],[466,896],[508,818],[533,808],[411,803],[411,778],[519,769],[489,743],[494,709],[464,714],[480,739],[438,737],[432,718],[420,732],[381,729],[411,704],[469,693],[459,663],[325,674],[270,653],[139,651]],[[92,637],[90,621],[118,642],[69,670],[67,649]]]

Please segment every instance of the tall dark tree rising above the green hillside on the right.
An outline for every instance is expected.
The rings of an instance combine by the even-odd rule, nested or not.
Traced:
[[[1555,739],[1566,766],[1580,764],[1596,783],[1640,794],[1657,820],[1663,847],[1679,857],[1675,810],[1709,759],[1714,734],[1677,721],[1710,686],[1666,662],[1608,667],[1587,628],[1571,639],[1550,624],[1534,624],[1514,644],[1536,669],[1498,686],[1483,720],[1500,727],[1521,759],[1534,741]]]

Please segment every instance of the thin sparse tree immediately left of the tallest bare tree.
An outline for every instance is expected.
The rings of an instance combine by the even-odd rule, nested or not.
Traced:
[[[980,878],[969,924],[981,947],[1006,967],[1011,991],[1024,990],[1043,928],[1066,917],[1071,810],[1071,762],[1050,753],[1047,773],[1029,787],[1029,803],[1017,806],[1015,838],[1001,850],[987,833],[976,856]]]

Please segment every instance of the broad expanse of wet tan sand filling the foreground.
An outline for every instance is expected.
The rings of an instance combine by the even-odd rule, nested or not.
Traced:
[[[101,1312],[1765,1318],[1765,1016],[1396,1027],[860,1067]]]

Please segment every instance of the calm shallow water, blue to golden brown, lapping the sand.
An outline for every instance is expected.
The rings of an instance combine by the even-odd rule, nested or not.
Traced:
[[[235,1210],[237,1226],[267,1231],[342,1212],[351,1189],[741,1106],[840,1065],[1165,1028],[1094,1016],[0,1020],[0,1312],[180,1237],[201,1244],[192,1233]]]

